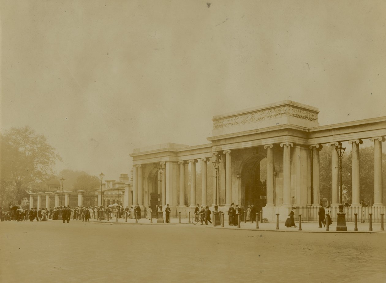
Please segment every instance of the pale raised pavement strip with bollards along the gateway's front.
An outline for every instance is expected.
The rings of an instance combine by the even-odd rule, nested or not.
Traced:
[[[75,220],[76,221],[76,220]],[[79,220],[78,220],[79,221]],[[115,218],[110,219],[109,221],[103,220],[103,221],[97,221],[94,219],[90,219],[91,222],[97,222],[97,223],[113,223],[113,224],[136,224],[136,225],[144,225],[144,224],[151,224],[149,219],[141,218],[138,220],[138,222],[135,222],[135,219],[127,219],[127,222],[125,222],[125,219],[118,219],[118,222]],[[192,223],[189,223],[189,220],[187,218],[181,218],[181,223],[179,223],[178,218],[172,218],[171,223],[157,223],[157,219],[153,218],[153,223],[151,225],[170,225],[170,224],[185,224],[185,225],[193,225]],[[200,222],[198,222],[196,225],[201,225]],[[336,222],[333,222],[332,225],[329,226],[329,231],[326,230],[327,227],[319,228],[318,222],[302,222],[301,223],[301,231],[299,230],[299,223],[296,223],[295,227],[285,227],[283,222],[279,222],[279,229],[276,229],[276,223],[261,223],[259,222],[259,229],[256,229],[256,222],[253,224],[249,221],[246,223],[240,222],[240,228],[237,228],[237,225],[230,226],[228,225],[228,222],[224,222],[224,227],[213,225],[205,225],[205,227],[211,227],[215,229],[238,229],[238,230],[261,230],[261,231],[277,231],[277,232],[326,232],[326,233],[358,233],[358,232],[385,232],[381,231],[381,223],[372,223],[372,231],[369,231],[369,223],[359,223],[358,222],[358,231],[354,231],[354,222],[346,222],[347,226],[347,232],[337,232],[335,231]]]

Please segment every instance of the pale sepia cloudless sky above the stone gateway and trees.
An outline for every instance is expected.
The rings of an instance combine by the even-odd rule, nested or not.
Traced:
[[[0,0],[0,131],[29,125],[58,172],[118,179],[134,148],[208,143],[214,115],[386,115],[386,2],[208,1]]]

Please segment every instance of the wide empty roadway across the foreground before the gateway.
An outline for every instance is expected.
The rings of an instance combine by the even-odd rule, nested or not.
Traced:
[[[0,282],[382,282],[385,240],[385,233],[1,222]]]

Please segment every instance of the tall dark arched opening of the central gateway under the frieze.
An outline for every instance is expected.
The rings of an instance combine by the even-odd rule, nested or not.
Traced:
[[[253,204],[257,211],[267,203],[267,158],[254,154],[247,158],[241,169],[241,205]]]

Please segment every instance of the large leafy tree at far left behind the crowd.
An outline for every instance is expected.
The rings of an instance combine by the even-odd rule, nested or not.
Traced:
[[[19,202],[54,175],[61,160],[44,135],[29,126],[0,134],[0,203]]]

